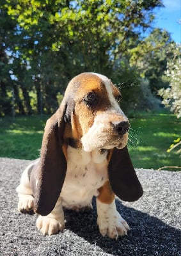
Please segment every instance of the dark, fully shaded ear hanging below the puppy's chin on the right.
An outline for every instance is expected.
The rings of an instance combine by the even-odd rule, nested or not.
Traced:
[[[123,201],[133,202],[143,195],[143,189],[132,166],[127,146],[114,148],[108,166],[109,183]]]

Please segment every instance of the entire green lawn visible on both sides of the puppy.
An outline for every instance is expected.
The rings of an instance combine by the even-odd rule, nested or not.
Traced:
[[[47,118],[49,116],[1,118],[0,157],[38,157]],[[166,151],[173,140],[180,137],[180,122],[175,115],[139,113],[136,118],[130,118],[130,124],[129,152],[136,168],[180,166],[177,150]]]

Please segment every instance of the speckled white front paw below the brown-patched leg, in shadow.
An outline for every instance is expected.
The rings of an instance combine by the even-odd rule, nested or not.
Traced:
[[[127,231],[130,230],[127,222],[120,216],[118,212],[114,212],[114,214],[107,215],[102,214],[102,216],[98,216],[97,224],[102,236],[109,236],[112,239],[118,239],[118,236],[127,235]]]

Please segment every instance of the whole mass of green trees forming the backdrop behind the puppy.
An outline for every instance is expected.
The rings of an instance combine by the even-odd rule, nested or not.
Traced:
[[[145,92],[168,87],[172,42],[152,28],[158,7],[161,0],[1,0],[0,116],[53,113],[81,72],[123,87],[124,110],[157,108]]]

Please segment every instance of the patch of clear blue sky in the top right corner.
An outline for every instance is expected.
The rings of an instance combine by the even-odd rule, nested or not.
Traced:
[[[166,29],[175,42],[181,43],[181,1],[163,0],[162,2],[165,8],[159,8],[154,12],[153,26]]]

